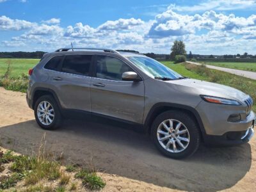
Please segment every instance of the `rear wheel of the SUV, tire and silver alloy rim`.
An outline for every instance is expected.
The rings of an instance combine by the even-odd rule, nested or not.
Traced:
[[[40,116],[42,114],[44,114],[44,112],[42,112],[42,111],[44,111],[43,109],[44,109],[45,103],[47,104],[47,107],[49,106],[48,104],[50,104],[50,106],[49,106],[49,109],[47,109],[48,115],[43,115],[43,117],[45,116],[45,118],[44,118],[44,120],[42,120],[43,117],[40,118]],[[42,108],[42,106],[43,106],[43,108]],[[39,109],[40,109],[40,111],[38,111]],[[51,95],[44,95],[36,100],[35,108],[34,108],[34,115],[35,115],[37,124],[45,130],[54,130],[54,129],[57,129],[58,127],[60,127],[60,125],[61,125],[60,109],[58,107],[56,100]],[[47,116],[49,118],[46,118]]]

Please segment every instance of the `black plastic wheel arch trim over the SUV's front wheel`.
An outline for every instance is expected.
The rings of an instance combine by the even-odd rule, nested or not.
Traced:
[[[148,134],[151,132],[151,125],[154,122],[157,115],[169,111],[169,110],[179,110],[184,111],[191,115],[193,118],[195,118],[196,123],[198,124],[198,127],[200,128],[200,132],[202,133],[202,138],[204,139],[205,135],[205,129],[204,124],[202,122],[202,119],[195,108],[192,108],[191,106],[186,106],[182,104],[174,104],[174,103],[168,103],[168,102],[159,102],[157,104],[154,104],[150,111],[148,112],[147,118],[144,123],[144,127]]]

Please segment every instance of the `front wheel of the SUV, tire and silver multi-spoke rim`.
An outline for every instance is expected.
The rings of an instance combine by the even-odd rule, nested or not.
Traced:
[[[167,129],[163,123],[169,128],[173,125],[174,129]],[[158,150],[173,159],[192,156],[200,145],[200,130],[195,119],[182,111],[166,111],[158,115],[152,124],[151,137]]]

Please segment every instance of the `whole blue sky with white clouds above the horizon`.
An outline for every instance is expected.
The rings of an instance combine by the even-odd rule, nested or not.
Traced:
[[[68,47],[256,54],[256,1],[0,0],[0,51]]]

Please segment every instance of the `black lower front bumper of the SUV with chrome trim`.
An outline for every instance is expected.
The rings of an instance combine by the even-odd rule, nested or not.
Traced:
[[[253,126],[246,131],[226,132],[222,136],[205,135],[204,141],[209,145],[234,146],[248,143],[254,134]]]

